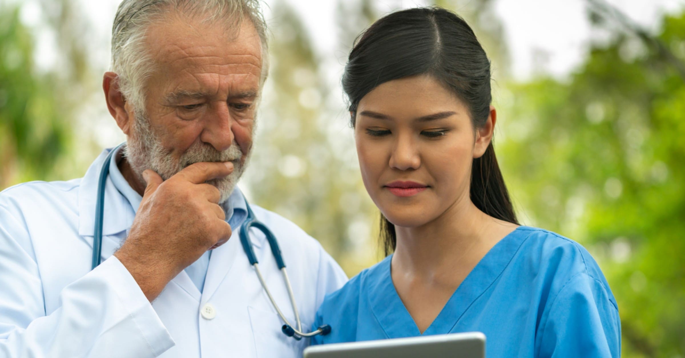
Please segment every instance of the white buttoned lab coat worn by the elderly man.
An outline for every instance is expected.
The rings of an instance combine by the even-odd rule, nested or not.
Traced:
[[[112,256],[133,215],[108,179],[103,262],[90,270],[97,179],[107,153],[82,179],[34,181],[0,193],[0,357],[301,357],[308,339],[298,342],[282,333],[283,323],[240,246],[238,228],[212,252],[202,293],[183,270],[149,303]],[[347,277],[295,224],[251,207],[279,240],[303,329],[309,331],[325,294]],[[259,231],[250,237],[269,290],[294,322],[269,243]]]

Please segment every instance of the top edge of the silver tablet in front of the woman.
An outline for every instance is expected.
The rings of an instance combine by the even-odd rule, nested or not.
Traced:
[[[480,332],[427,335],[393,340],[322,344],[304,350],[304,358],[485,358],[485,335]]]

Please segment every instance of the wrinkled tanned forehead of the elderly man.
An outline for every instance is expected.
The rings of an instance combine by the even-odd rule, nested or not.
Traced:
[[[155,66],[148,90],[259,92],[262,47],[250,21],[227,31],[223,24],[174,16],[151,25],[146,42]]]

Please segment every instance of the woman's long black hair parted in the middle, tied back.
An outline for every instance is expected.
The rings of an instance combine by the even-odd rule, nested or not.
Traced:
[[[431,75],[469,108],[473,127],[490,114],[490,60],[471,27],[443,8],[412,8],[376,21],[358,38],[349,54],[343,90],[349,97],[351,125],[357,107],[371,90],[393,79]],[[516,214],[504,184],[493,143],[473,159],[471,201],[482,212],[512,223]],[[395,250],[395,225],[381,214],[386,255]]]

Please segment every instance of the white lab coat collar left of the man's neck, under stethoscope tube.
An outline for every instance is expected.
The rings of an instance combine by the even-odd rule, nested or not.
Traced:
[[[79,187],[79,235],[90,236],[94,235],[95,231],[95,204],[97,202],[97,185],[100,177],[102,165],[105,162],[107,155],[112,151],[111,148],[105,149],[95,159],[95,162],[90,164],[90,168],[86,171],[81,185]],[[126,198],[116,190],[112,179],[107,177],[105,182],[105,206],[103,210],[104,218],[102,225],[102,235],[116,235],[125,231],[129,227],[129,220],[127,218]]]

